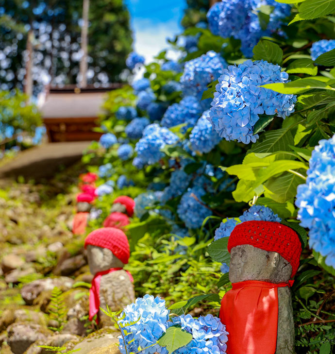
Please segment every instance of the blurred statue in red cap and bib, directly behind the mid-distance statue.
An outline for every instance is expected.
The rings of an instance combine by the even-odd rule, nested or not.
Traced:
[[[127,196],[119,196],[113,202],[111,214],[103,221],[103,227],[123,229],[129,225],[129,217],[134,214],[135,202]]]

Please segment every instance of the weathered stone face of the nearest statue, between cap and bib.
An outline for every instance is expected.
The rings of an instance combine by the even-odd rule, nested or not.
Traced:
[[[231,249],[229,279],[232,283],[260,280],[278,284],[287,282],[291,274],[292,266],[277,252],[251,245]]]

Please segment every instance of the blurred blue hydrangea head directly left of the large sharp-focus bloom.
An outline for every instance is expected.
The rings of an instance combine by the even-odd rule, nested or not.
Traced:
[[[187,96],[179,103],[170,105],[162,118],[162,125],[174,127],[185,123],[183,131],[194,127],[202,112],[201,104],[194,96]]]

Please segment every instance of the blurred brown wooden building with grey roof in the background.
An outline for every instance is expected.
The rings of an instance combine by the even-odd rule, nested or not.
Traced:
[[[49,142],[99,140],[101,133],[93,128],[98,126],[98,117],[103,113],[106,92],[120,87],[121,84],[50,88],[41,106]]]

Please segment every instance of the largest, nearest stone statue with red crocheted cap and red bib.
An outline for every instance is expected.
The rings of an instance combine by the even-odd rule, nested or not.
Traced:
[[[228,251],[233,289],[220,308],[227,354],[294,354],[289,279],[299,267],[299,236],[279,222],[245,221],[231,233]]]

